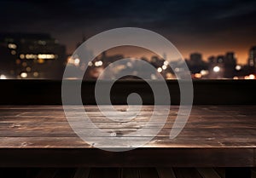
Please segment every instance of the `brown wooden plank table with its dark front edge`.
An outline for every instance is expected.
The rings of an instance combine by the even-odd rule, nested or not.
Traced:
[[[125,106],[116,107],[125,110]],[[98,128],[125,135],[143,128],[153,107],[143,106],[141,114],[125,123],[105,118],[97,106],[84,109]],[[75,109],[74,106],[73,119],[79,121],[82,118]],[[90,146],[73,132],[62,106],[0,106],[0,166],[256,165],[256,106],[193,106],[182,132],[170,140],[177,111],[178,106],[171,107],[164,128],[145,146],[128,152],[107,152]],[[154,129],[159,123],[154,120],[148,135],[134,137],[134,141],[154,136],[151,127]],[[92,129],[86,125],[78,127]],[[97,135],[92,133],[89,137],[95,139]]]

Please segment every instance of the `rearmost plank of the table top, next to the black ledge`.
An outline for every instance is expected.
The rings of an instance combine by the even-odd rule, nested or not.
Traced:
[[[111,108],[110,106],[101,106],[108,110],[108,108]],[[127,106],[114,106],[118,111],[125,111]],[[81,112],[82,110],[85,110],[89,114],[95,116],[99,116],[99,108],[98,106],[69,106],[70,113],[76,114],[75,112]],[[254,115],[255,110],[253,110],[255,106],[193,106],[193,110],[191,111],[192,114],[202,113],[203,116],[207,115],[207,113],[215,113],[217,116],[221,116],[222,114],[232,114],[236,113],[239,114],[238,116],[245,115]],[[81,110],[82,109],[82,110]],[[147,112],[151,113],[154,109],[154,106],[142,106],[142,112],[144,114],[148,114]],[[22,113],[24,116],[32,116],[33,113],[36,113],[38,116],[46,116],[48,113],[62,113],[63,112],[63,106],[1,106],[0,108],[1,115],[19,115]],[[9,112],[12,111],[12,112]],[[170,106],[170,114],[171,115],[177,115],[178,106]],[[163,111],[158,111],[163,112]],[[111,113],[111,112],[109,112]],[[149,115],[149,114],[148,114]],[[214,117],[214,116],[212,116]]]

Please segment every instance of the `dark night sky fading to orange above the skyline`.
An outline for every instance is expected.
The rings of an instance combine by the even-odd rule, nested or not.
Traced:
[[[192,52],[235,51],[247,62],[256,45],[256,1],[130,0],[0,2],[0,32],[47,32],[72,54],[83,35],[116,27],[142,27],[167,37],[187,58]]]

